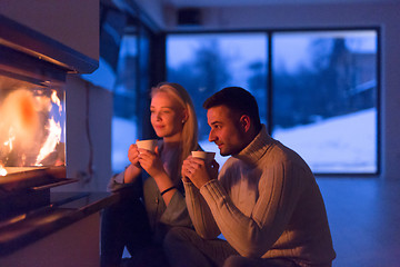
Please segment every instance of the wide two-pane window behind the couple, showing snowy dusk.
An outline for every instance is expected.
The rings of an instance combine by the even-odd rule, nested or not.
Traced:
[[[219,155],[208,142],[201,105],[223,87],[240,86],[257,98],[271,136],[316,174],[376,174],[377,40],[374,29],[171,33],[167,76],[191,93],[207,150]]]

